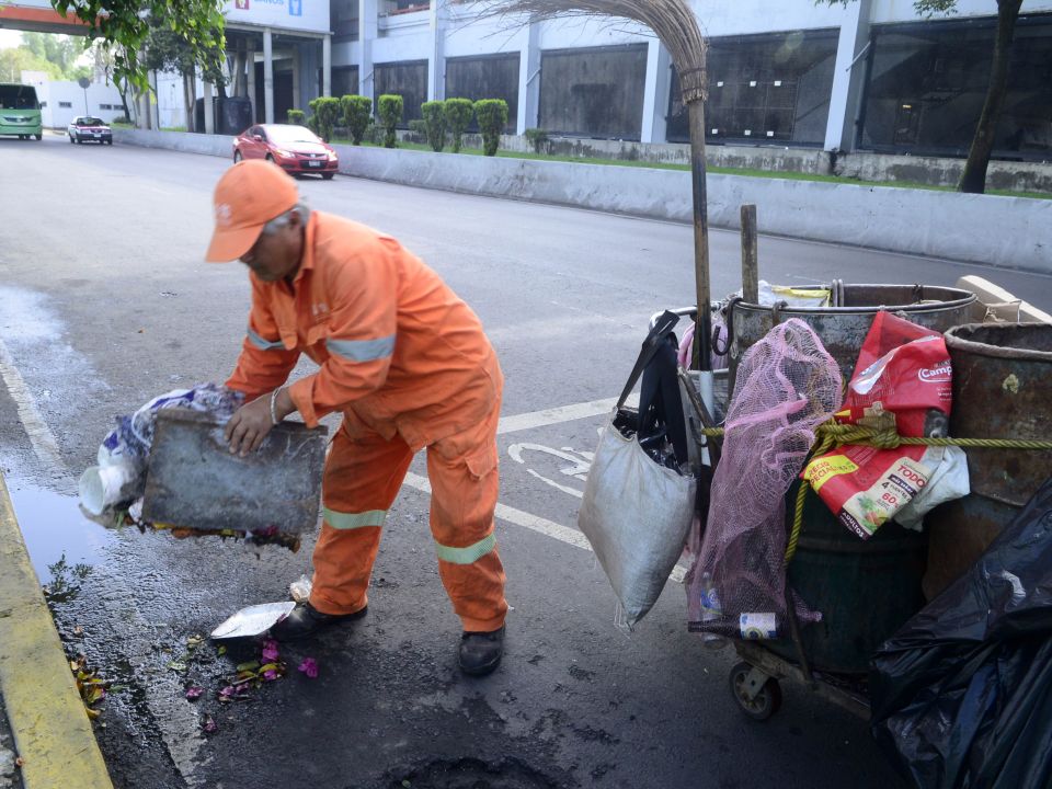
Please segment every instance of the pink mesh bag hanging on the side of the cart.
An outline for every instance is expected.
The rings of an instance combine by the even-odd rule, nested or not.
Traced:
[[[841,395],[836,362],[801,320],[776,325],[742,357],[700,552],[687,575],[691,630],[739,639],[788,633],[786,492]],[[802,622],[821,619],[794,599]]]

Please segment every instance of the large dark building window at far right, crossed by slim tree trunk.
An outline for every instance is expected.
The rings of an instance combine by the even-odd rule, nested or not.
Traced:
[[[967,156],[995,30],[992,18],[874,27],[859,147]],[[1045,159],[1050,149],[1052,16],[1021,16],[994,155]]]

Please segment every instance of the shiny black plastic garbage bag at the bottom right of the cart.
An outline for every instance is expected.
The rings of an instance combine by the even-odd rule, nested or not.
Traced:
[[[873,734],[924,789],[1052,786],[1052,479],[887,641]]]

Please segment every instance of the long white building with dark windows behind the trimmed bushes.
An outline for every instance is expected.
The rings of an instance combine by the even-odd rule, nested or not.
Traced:
[[[930,19],[911,0],[691,5],[710,43],[710,144],[967,151],[988,82],[995,0],[959,0]],[[448,0],[231,0],[226,15],[226,93],[253,122],[284,122],[318,95],[398,93],[403,124],[424,101],[495,98],[508,103],[508,133],[687,139],[668,52],[626,20],[499,22]],[[162,125],[182,125],[180,91],[163,78],[158,88]],[[1052,158],[1052,0],[1022,4],[996,153]]]

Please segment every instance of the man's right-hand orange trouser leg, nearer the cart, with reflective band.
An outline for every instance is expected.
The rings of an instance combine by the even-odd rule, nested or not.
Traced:
[[[478,444],[466,455],[443,456],[442,442],[427,448],[438,574],[467,631],[496,630],[507,613],[504,568],[493,535],[499,410],[498,404],[492,419],[479,425]]]

